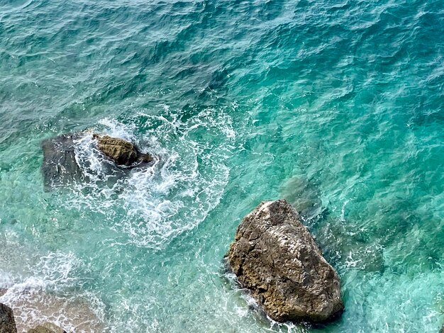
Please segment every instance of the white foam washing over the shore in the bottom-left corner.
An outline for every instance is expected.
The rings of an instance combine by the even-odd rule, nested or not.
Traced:
[[[70,332],[100,332],[104,306],[87,292],[67,294],[77,287],[82,266],[72,253],[50,252],[30,266],[28,276],[0,274],[7,288],[0,302],[13,308],[18,332],[52,322]]]

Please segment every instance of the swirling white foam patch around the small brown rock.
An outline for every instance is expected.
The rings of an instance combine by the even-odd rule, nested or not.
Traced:
[[[126,242],[160,249],[218,204],[235,140],[231,118],[223,111],[207,108],[181,120],[165,106],[163,115],[138,113],[125,123],[103,119],[94,130],[131,140],[157,158],[152,166],[110,181],[109,162],[86,135],[77,143],[76,156],[91,181],[74,186],[74,195],[62,203],[67,209],[90,215],[91,223],[97,223],[99,213],[101,222],[126,233]]]

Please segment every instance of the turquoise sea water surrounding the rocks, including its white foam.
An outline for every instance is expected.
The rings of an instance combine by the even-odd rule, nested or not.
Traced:
[[[443,36],[442,0],[0,1],[0,301],[76,332],[438,332]],[[86,129],[162,162],[45,192],[40,141]],[[223,270],[276,198],[340,274],[325,328]]]

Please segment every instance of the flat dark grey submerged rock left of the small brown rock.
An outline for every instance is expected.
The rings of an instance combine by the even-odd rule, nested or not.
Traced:
[[[63,186],[84,180],[74,153],[74,140],[79,137],[77,133],[70,133],[42,141],[42,174],[46,186]]]

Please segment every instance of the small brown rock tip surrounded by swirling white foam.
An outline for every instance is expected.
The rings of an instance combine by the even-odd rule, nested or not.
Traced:
[[[116,164],[132,166],[136,162],[149,163],[153,160],[150,154],[139,152],[135,145],[126,140],[108,135],[94,134],[93,137],[99,150]]]

